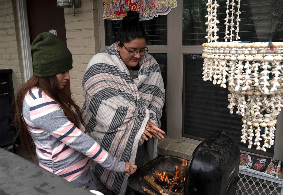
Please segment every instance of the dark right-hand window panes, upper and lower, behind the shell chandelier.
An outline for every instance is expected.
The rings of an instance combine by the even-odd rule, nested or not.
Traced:
[[[207,40],[205,15],[207,15],[206,1],[183,0],[183,45],[200,45]],[[219,41],[225,41],[226,1],[220,0],[217,10],[217,25],[220,37]],[[269,40],[271,32],[280,29],[283,19],[283,1],[241,1],[240,6],[240,33],[241,41]],[[234,16],[236,17],[236,16]],[[276,34],[273,40],[282,41],[282,36]],[[223,129],[231,136],[244,151],[250,151],[266,156],[273,156],[271,147],[267,152],[256,151],[255,147],[248,149],[246,144],[240,142],[242,117],[230,114],[227,106],[228,90],[219,85],[213,85],[210,81],[202,79],[201,55],[184,54],[183,56],[183,131],[182,136],[197,140],[204,140],[213,132]]]

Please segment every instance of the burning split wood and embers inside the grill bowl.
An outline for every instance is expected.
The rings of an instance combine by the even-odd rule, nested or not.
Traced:
[[[173,173],[170,171],[159,172],[155,170],[153,176],[145,176],[144,181],[147,183],[147,186],[143,186],[142,189],[151,195],[154,195],[156,192],[162,195],[184,194],[186,170],[187,159],[183,158],[182,167],[175,165],[175,171]]]

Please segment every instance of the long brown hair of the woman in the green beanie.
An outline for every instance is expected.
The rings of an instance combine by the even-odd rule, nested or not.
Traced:
[[[59,83],[56,75],[50,77],[32,76],[21,88],[19,88],[17,92],[17,113],[15,115],[15,122],[19,126],[18,133],[22,137],[24,146],[31,159],[33,159],[35,155],[35,143],[33,142],[33,139],[28,131],[27,124],[23,118],[23,101],[28,91],[33,87],[39,87],[50,98],[54,99],[61,106],[65,116],[68,117],[68,120],[74,123],[76,127],[80,128],[80,122],[84,124],[80,108],[68,95],[68,89],[66,87],[64,87],[64,89],[59,89]],[[69,104],[74,106],[76,112],[78,113],[78,116],[72,109],[69,108]]]

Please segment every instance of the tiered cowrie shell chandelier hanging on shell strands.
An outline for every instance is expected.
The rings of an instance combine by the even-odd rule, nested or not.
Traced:
[[[212,0],[206,5],[203,80],[228,88],[230,113],[237,108],[243,117],[241,142],[266,152],[274,145],[276,118],[283,107],[283,42],[239,42],[240,0],[227,0],[225,42],[218,42],[219,5]]]

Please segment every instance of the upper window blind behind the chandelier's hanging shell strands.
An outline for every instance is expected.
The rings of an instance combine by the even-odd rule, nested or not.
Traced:
[[[207,35],[206,3],[205,0],[183,0],[183,45],[201,45],[207,42],[204,38]],[[218,41],[224,41],[226,0],[219,0],[217,3],[220,5],[217,8],[217,19],[220,21],[217,25],[219,28],[217,35],[220,37]],[[237,1],[235,3],[238,4]],[[242,13],[239,22],[240,41],[266,42],[272,32],[283,27],[283,0],[241,1],[240,12]],[[282,36],[283,32],[278,32],[274,34],[272,40],[282,41]]]

